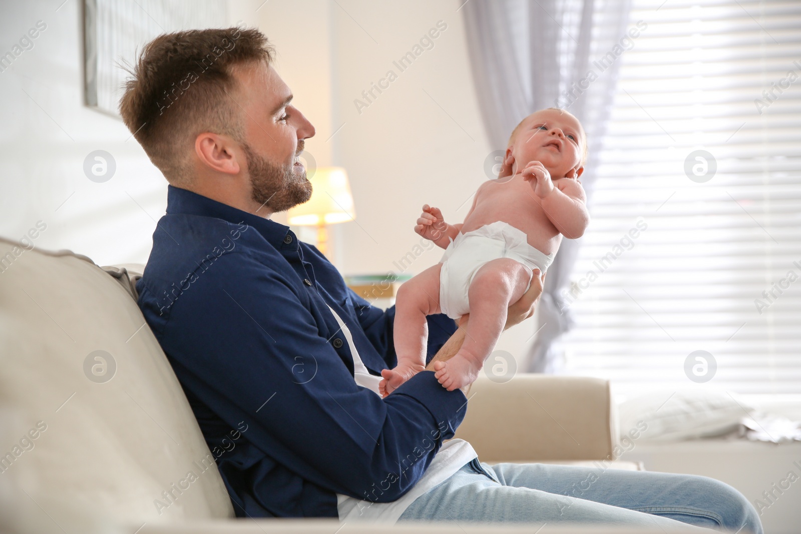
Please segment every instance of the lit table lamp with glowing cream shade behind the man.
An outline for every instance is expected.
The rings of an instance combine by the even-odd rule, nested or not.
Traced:
[[[317,227],[317,248],[326,254],[328,224],[347,223],[356,219],[348,173],[342,167],[320,167],[309,179],[312,198],[288,211],[288,223]]]

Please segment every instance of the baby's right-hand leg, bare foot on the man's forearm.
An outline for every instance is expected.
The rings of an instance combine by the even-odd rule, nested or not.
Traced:
[[[434,363],[439,382],[453,391],[472,383],[506,323],[506,308],[517,302],[531,281],[531,270],[510,258],[493,259],[481,266],[470,283],[470,319],[465,343],[445,362]]]

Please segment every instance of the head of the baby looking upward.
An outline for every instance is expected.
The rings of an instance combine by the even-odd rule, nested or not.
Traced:
[[[521,120],[509,136],[501,176],[521,172],[532,161],[548,169],[553,179],[584,172],[587,136],[582,123],[566,110],[549,107]]]

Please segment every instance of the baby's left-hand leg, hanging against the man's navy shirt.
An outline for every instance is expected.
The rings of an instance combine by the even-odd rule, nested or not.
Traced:
[[[425,367],[425,347],[429,323],[425,316],[440,312],[440,270],[442,264],[429,267],[398,289],[395,303],[395,353],[397,367],[381,371],[381,393],[392,393],[401,383]]]

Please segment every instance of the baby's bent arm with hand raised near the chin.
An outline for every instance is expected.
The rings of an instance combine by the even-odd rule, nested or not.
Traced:
[[[532,180],[534,194],[542,210],[557,230],[567,239],[578,239],[590,224],[586,194],[578,178],[557,179],[554,183],[545,167],[531,162],[523,170],[523,179]]]

